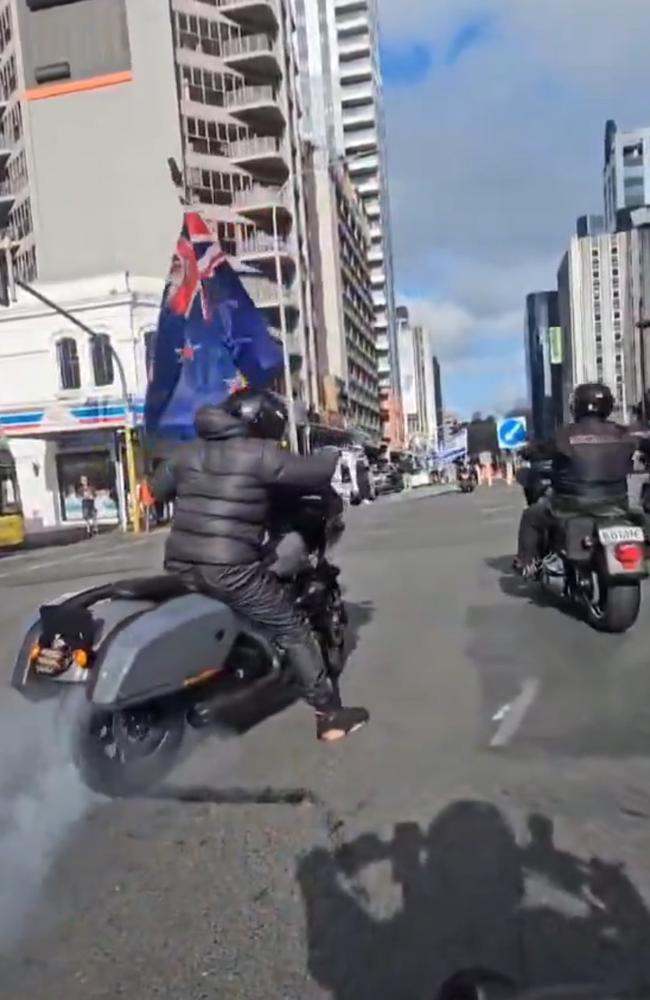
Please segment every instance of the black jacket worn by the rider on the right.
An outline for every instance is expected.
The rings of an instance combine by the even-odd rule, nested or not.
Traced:
[[[594,503],[627,500],[627,477],[638,449],[650,448],[649,432],[598,417],[561,427],[553,442],[532,446],[532,461],[551,461],[556,497]]]

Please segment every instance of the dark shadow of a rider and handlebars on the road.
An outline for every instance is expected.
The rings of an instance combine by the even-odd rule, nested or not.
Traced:
[[[460,801],[424,832],[314,850],[297,879],[309,972],[334,1000],[433,1000],[468,968],[520,989],[650,983],[641,896],[621,867],[559,850],[545,816],[520,846],[496,807]]]

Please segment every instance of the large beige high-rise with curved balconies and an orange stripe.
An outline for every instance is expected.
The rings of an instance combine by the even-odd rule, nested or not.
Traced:
[[[18,266],[45,280],[162,277],[180,222],[174,157],[224,250],[254,272],[271,328],[286,326],[294,391],[311,402],[292,11],[292,0],[4,0],[0,134]]]

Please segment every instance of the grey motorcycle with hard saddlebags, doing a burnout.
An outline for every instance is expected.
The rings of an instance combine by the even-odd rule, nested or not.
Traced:
[[[304,559],[282,582],[308,617],[335,684],[347,616],[340,571],[326,553],[344,530],[342,516],[332,514],[331,499],[302,498],[290,520]],[[273,569],[273,546],[267,561]],[[74,761],[89,788],[111,797],[163,778],[188,724],[202,728],[254,690],[289,683],[281,649],[172,574],[121,580],[44,605],[12,675],[12,686],[32,701],[65,702],[83,690],[72,722]]]

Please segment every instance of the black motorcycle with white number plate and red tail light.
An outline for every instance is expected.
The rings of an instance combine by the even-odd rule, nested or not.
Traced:
[[[558,514],[539,580],[545,591],[577,605],[599,632],[626,632],[641,607],[646,534],[623,511]]]

